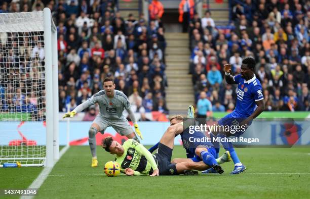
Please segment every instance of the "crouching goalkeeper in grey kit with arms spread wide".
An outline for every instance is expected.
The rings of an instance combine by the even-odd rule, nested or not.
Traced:
[[[105,129],[111,126],[121,135],[126,135],[128,138],[134,139],[139,142],[139,139],[129,125],[128,120],[123,116],[124,109],[126,109],[129,113],[129,117],[134,123],[137,135],[139,135],[140,138],[143,139],[135,116],[130,108],[130,103],[127,96],[123,92],[114,89],[115,84],[111,78],[105,78],[103,80],[103,88],[104,90],[97,92],[86,102],[82,103],[73,111],[68,112],[63,116],[63,118],[73,117],[76,113],[83,111],[91,105],[94,105],[95,103],[99,104],[100,112],[88,131],[88,142],[91,154],[93,156],[92,167],[98,166],[96,154],[97,132],[100,131],[103,134]]]

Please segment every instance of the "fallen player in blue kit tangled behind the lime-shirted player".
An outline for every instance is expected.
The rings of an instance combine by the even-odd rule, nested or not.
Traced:
[[[194,118],[195,110],[192,106],[188,107],[187,110],[187,118]],[[169,118],[170,120],[170,125],[173,126],[175,124],[183,122],[183,117],[180,115],[172,116]],[[193,122],[193,121],[189,121]],[[185,148],[186,151],[186,157],[187,158],[176,158],[173,159],[171,163],[181,163],[181,162],[200,162],[203,161],[206,165],[212,166],[213,164],[222,164],[224,162],[229,162],[230,161],[230,155],[229,152],[226,151],[224,155],[218,159],[214,158],[208,158],[208,156],[215,157],[216,156],[216,151],[215,148],[213,147],[211,142],[207,141],[190,141],[190,137],[195,138],[196,140],[203,140],[205,138],[205,134],[203,134],[200,131],[195,131],[193,133],[189,133],[189,129],[186,128],[183,132],[180,133],[182,142],[183,142],[183,147]],[[158,147],[157,143],[156,145],[152,146],[148,151],[153,152],[155,148]],[[216,161],[216,163],[214,162]]]

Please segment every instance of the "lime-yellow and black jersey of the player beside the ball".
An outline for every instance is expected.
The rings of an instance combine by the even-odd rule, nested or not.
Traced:
[[[123,147],[124,154],[115,159],[122,169],[131,168],[135,171],[134,175],[148,175],[151,169],[157,169],[152,154],[136,140],[128,139],[124,142]]]

